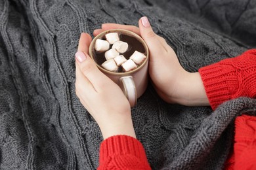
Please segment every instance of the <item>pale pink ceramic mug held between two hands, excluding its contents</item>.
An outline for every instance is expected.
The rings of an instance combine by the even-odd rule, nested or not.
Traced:
[[[144,59],[143,63],[140,64],[137,69],[125,73],[116,73],[102,68],[100,64],[96,62],[95,41],[96,39],[104,39],[104,36],[107,33],[119,33],[119,35],[128,35],[129,37],[135,38],[138,42],[141,43],[139,45],[143,46],[144,49],[142,53],[146,56],[146,59]],[[131,46],[133,46],[133,44],[131,44]],[[129,100],[131,107],[134,107],[137,104],[137,98],[139,98],[145,92],[148,85],[148,46],[146,46],[146,42],[144,42],[144,40],[139,35],[131,31],[127,31],[125,29],[110,29],[98,34],[93,39],[89,47],[89,56],[93,58],[96,65],[98,66],[98,69],[100,69],[102,73],[104,73],[119,85]]]

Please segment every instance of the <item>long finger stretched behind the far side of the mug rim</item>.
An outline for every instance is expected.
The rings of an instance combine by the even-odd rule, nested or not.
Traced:
[[[138,35],[140,35],[139,27],[136,27],[134,25],[121,25],[121,24],[108,23],[108,24],[102,24],[101,28],[104,31],[106,31],[108,29],[126,29],[128,31],[132,31],[132,32],[137,33]]]

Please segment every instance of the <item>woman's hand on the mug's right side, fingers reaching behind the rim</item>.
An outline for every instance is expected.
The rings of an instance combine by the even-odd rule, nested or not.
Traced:
[[[94,35],[108,29],[127,29],[140,35],[150,51],[149,74],[158,95],[168,103],[209,105],[199,73],[185,71],[177,55],[165,39],[156,35],[148,18],[140,18],[139,27],[133,25],[102,24]]]

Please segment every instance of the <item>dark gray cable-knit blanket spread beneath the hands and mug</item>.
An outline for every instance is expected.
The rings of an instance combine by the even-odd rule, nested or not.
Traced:
[[[96,169],[102,136],[75,95],[79,35],[141,16],[190,72],[256,47],[255,0],[1,0],[0,169]],[[256,100],[213,112],[167,104],[150,84],[132,109],[152,169],[223,168],[241,114]]]

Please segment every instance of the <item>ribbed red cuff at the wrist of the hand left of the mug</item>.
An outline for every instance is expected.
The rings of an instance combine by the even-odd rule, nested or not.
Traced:
[[[140,161],[148,164],[142,144],[134,137],[116,135],[105,139],[100,144],[100,163],[104,162],[109,156],[127,154],[136,156]]]

